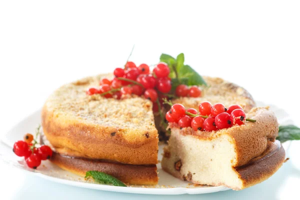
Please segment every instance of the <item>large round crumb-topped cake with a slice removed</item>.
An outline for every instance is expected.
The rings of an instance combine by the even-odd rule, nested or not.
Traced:
[[[159,114],[152,112],[150,100],[140,96],[115,99],[87,95],[86,90],[103,77],[113,75],[65,84],[46,100],[41,119],[44,142],[53,148],[51,161],[81,176],[88,170],[99,170],[129,184],[156,184],[157,129],[161,128],[155,127],[155,118]],[[245,110],[255,105],[245,89],[221,78],[204,79],[209,87],[202,90],[202,97],[173,101],[190,106],[202,100],[222,101],[225,105],[238,103]]]

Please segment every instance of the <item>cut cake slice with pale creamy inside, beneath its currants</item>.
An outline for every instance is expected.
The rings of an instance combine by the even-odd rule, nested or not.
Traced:
[[[252,108],[247,117],[256,122],[212,132],[180,129],[169,123],[171,136],[164,148],[163,170],[182,180],[234,190],[267,179],[285,157],[275,140],[278,123],[268,108]]]

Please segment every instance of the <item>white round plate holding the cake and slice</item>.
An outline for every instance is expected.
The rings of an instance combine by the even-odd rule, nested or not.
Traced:
[[[265,103],[257,102],[258,106],[265,106]],[[274,105],[270,106],[278,118],[280,124],[291,124],[292,120],[288,114]],[[40,177],[63,183],[68,185],[74,185],[78,187],[86,187],[91,189],[100,189],[107,191],[127,192],[127,193],[143,193],[143,194],[200,194],[211,193],[217,191],[227,190],[229,188],[224,186],[194,186],[193,184],[179,180],[170,174],[164,172],[161,169],[160,163],[157,164],[159,181],[155,186],[130,186],[130,187],[118,187],[104,184],[96,184],[91,180],[87,181],[84,178],[72,174],[68,171],[62,170],[56,165],[52,164],[48,160],[42,161],[42,164],[38,169],[33,170],[26,166],[23,158],[14,155],[11,148],[14,141],[23,137],[26,132],[34,132],[37,124],[40,123],[40,110],[35,111],[30,116],[16,124],[0,142],[0,161],[5,162],[11,166],[17,167],[31,174],[38,175]],[[282,145],[287,150],[290,142],[284,142]],[[161,160],[163,145],[159,146],[158,159]]]

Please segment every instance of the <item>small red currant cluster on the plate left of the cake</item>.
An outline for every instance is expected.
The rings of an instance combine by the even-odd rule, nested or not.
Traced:
[[[37,129],[39,133],[39,128]],[[32,143],[33,141],[33,143]],[[41,160],[49,159],[52,156],[52,149],[47,145],[36,147],[37,141],[33,139],[33,135],[27,133],[24,140],[18,140],[13,144],[13,152],[20,157],[25,157],[28,167],[36,169]]]

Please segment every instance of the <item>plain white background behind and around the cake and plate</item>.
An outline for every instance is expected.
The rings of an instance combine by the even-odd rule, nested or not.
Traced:
[[[300,124],[299,10],[296,0],[2,0],[0,136],[41,107],[61,84],[122,66],[133,44],[130,59],[137,64],[154,64],[162,52],[173,56],[183,52],[185,63],[200,74],[242,85],[255,99],[284,108]],[[21,192],[34,190],[26,184],[38,185],[39,190],[67,188],[5,166],[0,170],[4,199],[18,199],[25,195]],[[299,184],[300,172],[295,174],[288,185]],[[74,190],[83,196],[92,193],[68,187],[67,196],[76,194]],[[289,186],[276,198],[297,194],[292,190]]]

